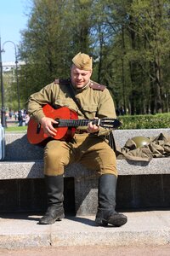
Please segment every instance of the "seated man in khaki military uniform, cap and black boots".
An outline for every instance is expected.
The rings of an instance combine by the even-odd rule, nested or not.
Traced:
[[[42,125],[48,137],[56,135],[54,119],[48,118],[42,111],[45,104],[53,107],[68,107],[77,112],[78,119],[116,118],[114,102],[104,85],[92,81],[92,58],[78,53],[72,59],[71,79],[56,80],[42,90],[30,96],[28,112]],[[77,102],[71,96],[71,88]],[[51,140],[44,148],[44,175],[48,193],[48,209],[40,218],[39,224],[54,224],[64,218],[63,192],[64,167],[72,162],[80,162],[99,174],[97,225],[122,226],[127,217],[115,211],[116,207],[116,155],[107,143],[105,135],[111,131],[99,127],[93,122],[78,127],[71,142]]]

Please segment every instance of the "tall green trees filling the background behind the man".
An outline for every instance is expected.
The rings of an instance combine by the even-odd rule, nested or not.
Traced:
[[[71,58],[94,58],[95,79],[130,114],[170,110],[169,0],[31,0],[22,31],[22,108],[31,93],[70,76]],[[11,102],[16,104],[16,84]],[[5,82],[8,87],[8,81]],[[8,107],[8,106],[7,106]]]

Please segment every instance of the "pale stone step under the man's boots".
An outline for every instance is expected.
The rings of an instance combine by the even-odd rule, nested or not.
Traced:
[[[127,224],[96,227],[94,216],[69,217],[38,225],[41,214],[1,214],[0,248],[69,246],[158,246],[170,241],[170,211],[125,212]]]

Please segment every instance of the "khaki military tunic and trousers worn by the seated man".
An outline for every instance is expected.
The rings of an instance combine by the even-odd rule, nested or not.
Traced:
[[[48,103],[54,108],[68,107],[77,112],[78,119],[84,119],[83,113],[71,97],[70,85],[71,83],[68,81],[56,80],[39,92],[32,94],[28,100],[30,116],[40,121],[44,117],[42,106]],[[87,86],[75,90],[75,96],[88,119],[95,117],[99,119],[116,118],[114,102],[109,90],[104,85],[90,80]],[[80,128],[85,131],[85,127]],[[64,173],[64,167],[69,163],[81,162],[82,165],[95,170],[99,175],[104,173],[117,175],[116,156],[106,143],[104,136],[109,132],[109,130],[100,127],[97,134],[77,134],[76,132],[74,143],[50,141],[44,149],[45,174],[49,176],[60,175]]]

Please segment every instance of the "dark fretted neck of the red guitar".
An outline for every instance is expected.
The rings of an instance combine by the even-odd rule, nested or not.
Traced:
[[[100,119],[55,119],[59,124],[56,127],[88,126],[89,122],[99,125]],[[55,127],[55,125],[54,125]]]

